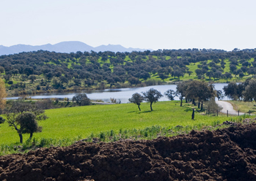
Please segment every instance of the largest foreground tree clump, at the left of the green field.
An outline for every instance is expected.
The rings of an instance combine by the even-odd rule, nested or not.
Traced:
[[[37,126],[37,120],[45,120],[47,116],[43,109],[39,109],[29,101],[12,101],[10,109],[5,110],[6,121],[15,131],[18,132],[20,142],[23,143],[24,133],[29,133],[30,138],[34,132],[41,131]]]

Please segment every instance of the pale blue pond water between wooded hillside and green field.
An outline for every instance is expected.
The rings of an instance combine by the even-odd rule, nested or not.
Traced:
[[[216,83],[213,84],[216,90],[222,90],[224,85],[227,83]],[[110,98],[117,99],[117,101],[121,101],[121,103],[127,103],[128,99],[134,93],[142,93],[146,92],[150,88],[154,88],[164,94],[165,91],[172,89],[176,90],[177,85],[153,85],[142,88],[117,88],[117,89],[105,89],[105,90],[92,90],[92,91],[83,91],[82,93],[87,93],[89,99],[92,100],[102,100],[104,102],[110,102]],[[223,90],[222,90],[223,91]],[[30,96],[32,99],[50,99],[50,98],[68,98],[72,99],[73,96],[78,94],[76,93],[42,93],[35,96]],[[19,97],[9,97],[7,99],[18,99]],[[175,97],[175,100],[178,100],[178,97]],[[224,97],[223,100],[227,100],[227,97]],[[159,101],[168,101],[168,99],[164,96]]]

